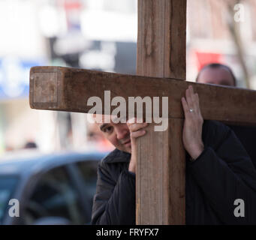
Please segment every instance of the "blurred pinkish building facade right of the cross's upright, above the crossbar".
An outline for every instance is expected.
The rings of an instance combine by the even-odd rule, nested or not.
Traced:
[[[188,80],[203,65],[221,62],[232,68],[239,87],[256,89],[255,11],[254,0],[188,0]]]

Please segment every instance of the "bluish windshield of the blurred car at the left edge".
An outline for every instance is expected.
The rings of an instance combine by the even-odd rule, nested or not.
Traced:
[[[0,223],[2,223],[5,210],[17,181],[18,177],[16,175],[0,175]]]

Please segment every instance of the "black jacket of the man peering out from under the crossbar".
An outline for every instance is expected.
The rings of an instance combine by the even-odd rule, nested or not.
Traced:
[[[256,171],[242,144],[217,121],[204,121],[202,137],[202,154],[186,160],[186,223],[256,224]],[[130,157],[116,149],[101,160],[92,224],[135,224]],[[245,202],[245,217],[235,217],[236,199]]]

